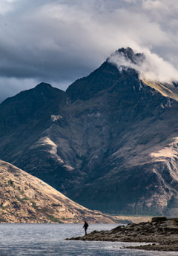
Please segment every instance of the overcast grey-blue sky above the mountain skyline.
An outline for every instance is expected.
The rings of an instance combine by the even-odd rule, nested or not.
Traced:
[[[1,0],[0,26],[0,101],[39,82],[65,90],[120,47],[178,70],[177,0]]]

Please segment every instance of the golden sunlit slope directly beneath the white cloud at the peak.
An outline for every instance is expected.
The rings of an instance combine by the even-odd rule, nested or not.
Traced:
[[[161,93],[163,96],[169,97],[171,99],[176,99],[178,101],[178,90],[174,87],[174,85],[167,83],[162,84],[157,81],[148,81],[145,79],[142,79],[142,82],[144,82],[145,85],[154,88],[156,91],[159,91],[159,93]]]

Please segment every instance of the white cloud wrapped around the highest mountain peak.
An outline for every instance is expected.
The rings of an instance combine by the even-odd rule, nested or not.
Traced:
[[[111,54],[108,62],[122,71],[133,68],[141,79],[172,83],[178,81],[178,70],[150,50],[142,48],[142,53],[134,53],[131,48],[119,49]]]

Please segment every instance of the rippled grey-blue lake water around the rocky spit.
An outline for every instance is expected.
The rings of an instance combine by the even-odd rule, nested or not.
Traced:
[[[111,230],[119,224],[90,224]],[[0,224],[0,256],[176,256],[177,252],[122,249],[131,243],[65,240],[84,234],[82,224]]]

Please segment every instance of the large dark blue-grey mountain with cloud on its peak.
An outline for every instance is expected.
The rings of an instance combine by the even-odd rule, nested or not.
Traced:
[[[141,65],[142,53],[116,51]],[[0,158],[86,206],[178,213],[177,84],[108,58],[60,91],[42,83],[0,105]]]

